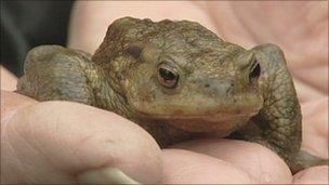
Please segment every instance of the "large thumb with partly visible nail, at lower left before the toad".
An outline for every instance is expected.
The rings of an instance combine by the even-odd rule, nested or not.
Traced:
[[[6,183],[98,183],[100,176],[108,177],[105,183],[156,183],[161,174],[161,153],[149,134],[113,113],[77,103],[18,109],[1,128],[1,149]]]

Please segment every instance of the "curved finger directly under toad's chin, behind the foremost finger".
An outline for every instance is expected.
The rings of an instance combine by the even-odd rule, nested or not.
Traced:
[[[292,175],[275,153],[255,143],[234,140],[196,140],[173,146],[206,154],[245,170],[260,184],[288,184]]]

